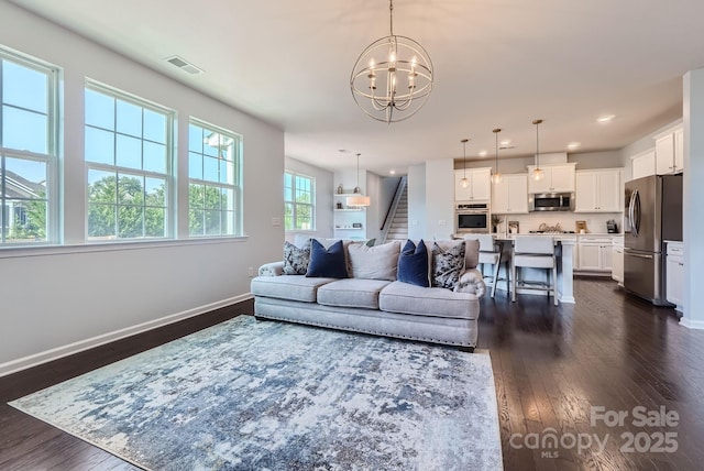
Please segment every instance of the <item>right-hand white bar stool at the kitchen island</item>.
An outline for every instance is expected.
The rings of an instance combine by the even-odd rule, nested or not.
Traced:
[[[516,269],[543,269],[547,270],[547,283],[528,283],[519,280]],[[552,276],[550,272],[552,271]],[[514,256],[510,264],[510,277],[513,280],[512,302],[516,302],[516,289],[527,287],[540,289],[552,295],[554,305],[558,305],[558,263],[554,256],[554,240],[543,236],[518,236],[514,241]],[[519,271],[520,273],[520,271]],[[552,278],[552,280],[551,280]]]

